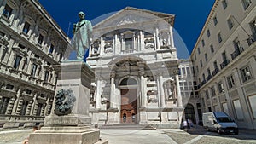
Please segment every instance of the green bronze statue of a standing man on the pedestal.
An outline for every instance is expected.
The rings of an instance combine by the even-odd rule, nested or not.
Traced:
[[[84,19],[84,12],[79,12],[79,22],[73,24],[73,47],[77,50],[77,60],[83,60],[85,52],[90,47],[92,26]]]

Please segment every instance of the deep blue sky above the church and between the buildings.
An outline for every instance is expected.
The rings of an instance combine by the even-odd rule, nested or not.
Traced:
[[[188,54],[179,56],[186,57],[194,48],[202,26],[207,20],[207,15],[212,9],[214,0],[38,0],[44,9],[54,18],[59,26],[72,37],[72,26],[79,18],[79,11],[84,11],[86,20],[94,20],[97,17],[116,12],[127,6],[138,9],[175,14],[174,28],[177,31],[175,43],[177,49],[187,47]],[[68,32],[69,24],[70,30]],[[180,37],[178,37],[178,35]],[[184,43],[182,43],[182,40]],[[178,50],[178,55],[184,54]]]

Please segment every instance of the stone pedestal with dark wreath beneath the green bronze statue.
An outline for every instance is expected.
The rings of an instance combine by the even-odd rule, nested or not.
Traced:
[[[58,81],[51,114],[44,119],[44,127],[29,136],[29,143],[108,143],[99,141],[100,131],[90,128],[90,84],[94,78],[90,66],[83,61],[67,61],[54,69]]]

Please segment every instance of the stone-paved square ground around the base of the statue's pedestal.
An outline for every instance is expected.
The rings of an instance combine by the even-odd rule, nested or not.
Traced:
[[[201,127],[187,131],[162,130],[101,130],[102,140],[109,144],[256,144],[256,130],[240,130],[239,135],[219,135]],[[0,131],[0,144],[21,144],[32,130]]]

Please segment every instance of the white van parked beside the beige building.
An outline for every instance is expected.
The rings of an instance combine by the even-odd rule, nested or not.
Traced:
[[[234,133],[238,135],[237,124],[224,112],[203,113],[202,121],[203,126],[207,128],[208,131],[214,130],[218,131],[219,134]]]

